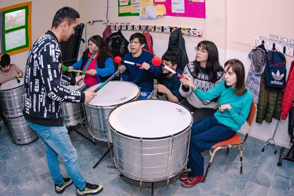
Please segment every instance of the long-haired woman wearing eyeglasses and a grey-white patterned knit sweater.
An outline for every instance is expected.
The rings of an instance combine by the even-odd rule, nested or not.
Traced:
[[[223,81],[223,68],[218,61],[218,49],[211,41],[201,41],[195,47],[195,61],[186,65],[183,74],[202,92],[217,86]],[[181,84],[180,94],[185,97],[181,104],[193,112],[193,122],[211,116],[218,108],[218,98],[201,101],[189,86]]]

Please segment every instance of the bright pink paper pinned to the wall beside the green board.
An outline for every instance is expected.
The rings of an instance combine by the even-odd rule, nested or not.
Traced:
[[[185,13],[172,13],[171,0],[165,2],[155,2],[155,4],[163,4],[166,6],[166,14],[164,16],[181,16],[181,17],[193,17],[193,18],[205,18],[205,2],[197,2],[191,0],[184,0]]]

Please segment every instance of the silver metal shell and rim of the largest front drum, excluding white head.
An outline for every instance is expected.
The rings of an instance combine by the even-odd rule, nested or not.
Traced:
[[[128,103],[130,102],[125,104]],[[185,106],[183,107],[186,108]],[[138,110],[140,109],[138,108]],[[186,109],[188,110],[188,108]],[[113,112],[115,112],[115,109]],[[121,112],[120,115],[123,115],[123,113]],[[188,161],[193,123],[192,114],[190,113],[190,115],[191,122],[187,125],[186,129],[161,138],[138,138],[126,135],[119,130],[115,130],[110,121],[108,121],[113,141],[113,162],[119,172],[126,177],[142,182],[167,180],[180,173],[186,167]]]

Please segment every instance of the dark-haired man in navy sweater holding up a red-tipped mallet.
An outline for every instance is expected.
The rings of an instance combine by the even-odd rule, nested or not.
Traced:
[[[154,89],[153,79],[159,79],[162,72],[161,67],[152,65],[153,55],[142,50],[145,43],[146,38],[143,34],[134,33],[131,35],[131,52],[124,57],[124,60],[142,64],[142,67],[124,64],[126,71],[123,72],[123,81],[137,84],[141,88],[141,92],[149,92],[148,94],[151,97],[151,91]]]

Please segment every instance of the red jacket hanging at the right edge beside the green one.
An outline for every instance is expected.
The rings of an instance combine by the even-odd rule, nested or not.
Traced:
[[[294,61],[291,63],[290,72],[287,78],[284,96],[282,99],[282,114],[281,119],[285,120],[291,107],[293,107],[294,99]]]

